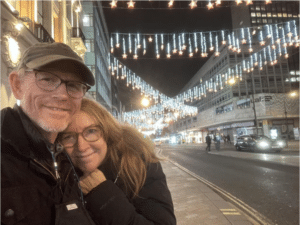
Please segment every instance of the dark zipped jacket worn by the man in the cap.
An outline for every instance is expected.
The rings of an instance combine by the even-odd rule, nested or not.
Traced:
[[[1,224],[55,224],[55,205],[80,197],[69,161],[57,155],[57,179],[51,154],[56,146],[20,107],[3,109],[1,125]]]

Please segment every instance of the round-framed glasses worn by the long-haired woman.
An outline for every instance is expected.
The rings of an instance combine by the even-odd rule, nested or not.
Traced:
[[[87,127],[82,133],[66,132],[58,136],[58,142],[65,148],[74,147],[78,141],[78,136],[81,135],[88,142],[98,141],[102,137],[102,130],[99,126]]]

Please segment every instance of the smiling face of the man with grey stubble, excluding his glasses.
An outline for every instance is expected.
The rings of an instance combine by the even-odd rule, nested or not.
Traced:
[[[47,70],[67,81],[79,81],[72,73]],[[45,132],[57,133],[65,130],[71,117],[80,109],[81,98],[68,95],[66,85],[53,91],[44,91],[36,85],[34,72],[26,72],[21,84],[21,108],[29,118]]]

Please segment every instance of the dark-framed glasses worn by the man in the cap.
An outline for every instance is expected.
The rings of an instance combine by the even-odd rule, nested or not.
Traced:
[[[36,85],[44,91],[54,91],[62,83],[66,84],[67,93],[72,98],[82,98],[91,88],[88,85],[78,81],[66,81],[60,79],[53,73],[40,70],[27,70],[27,72],[35,73]]]

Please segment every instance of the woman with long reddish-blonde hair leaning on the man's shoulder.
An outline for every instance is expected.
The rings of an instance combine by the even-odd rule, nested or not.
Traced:
[[[97,224],[176,224],[154,145],[137,130],[83,99],[58,141],[79,170],[86,207]]]

